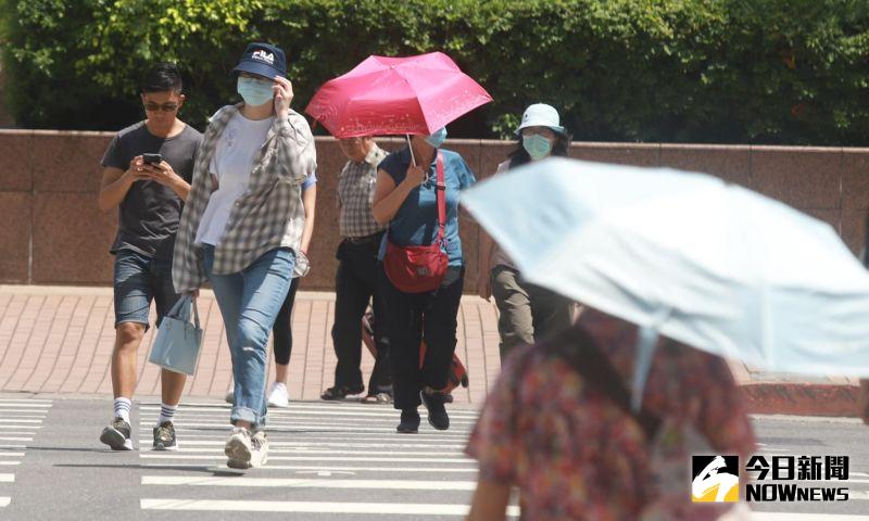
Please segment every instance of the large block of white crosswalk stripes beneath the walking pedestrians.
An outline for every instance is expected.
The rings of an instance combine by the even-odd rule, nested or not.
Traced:
[[[140,407],[142,448],[160,412]],[[274,512],[281,519],[461,519],[468,512],[477,468],[464,455],[473,409],[450,409],[451,428],[425,420],[418,434],[398,434],[399,412],[356,403],[292,403],[269,409],[268,463],[226,467],[229,406],[182,404],[179,449],[142,450],[140,508],[173,511]],[[317,516],[314,516],[317,514]],[[511,518],[518,516],[511,506]],[[313,518],[312,518],[313,516]]]

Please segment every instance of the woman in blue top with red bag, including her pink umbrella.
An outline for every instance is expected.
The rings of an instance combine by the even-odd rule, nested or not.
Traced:
[[[375,220],[389,224],[379,258],[399,432],[418,431],[420,402],[432,427],[450,427],[443,391],[465,275],[458,191],[476,179],[461,155],[440,147],[445,125],[490,101],[450,56],[430,52],[369,56],[327,81],[305,109],[337,138],[408,136],[380,163],[373,204]]]

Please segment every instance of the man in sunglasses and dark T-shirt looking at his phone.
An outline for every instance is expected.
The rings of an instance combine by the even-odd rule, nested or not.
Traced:
[[[141,100],[146,119],[121,130],[102,158],[99,205],[118,208],[114,263],[115,345],[112,353],[114,419],[100,441],[131,450],[129,411],[136,387],[136,358],[149,328],[151,301],[156,326],[180,297],[172,283],[172,253],[184,201],[190,192],[202,135],[178,119],[184,105],[175,64],[158,63],[144,74]],[[185,374],[163,369],[163,404],[153,429],[154,450],[175,450],[173,419]]]

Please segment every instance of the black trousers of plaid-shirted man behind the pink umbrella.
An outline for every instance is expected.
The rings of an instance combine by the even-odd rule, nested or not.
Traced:
[[[389,315],[383,306],[378,283],[377,251],[380,247],[378,233],[369,242],[353,244],[344,240],[338,246],[338,271],[335,275],[335,325],[332,343],[338,365],[335,367],[335,385],[362,385],[362,317],[374,301],[374,338],[377,358],[368,394],[377,394],[381,387],[392,384],[389,369],[390,348],[385,326]]]

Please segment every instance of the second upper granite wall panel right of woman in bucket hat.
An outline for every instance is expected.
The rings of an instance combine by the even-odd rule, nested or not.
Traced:
[[[706,144],[662,144],[660,166],[700,171],[751,187],[751,148]]]

